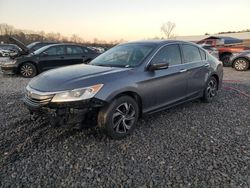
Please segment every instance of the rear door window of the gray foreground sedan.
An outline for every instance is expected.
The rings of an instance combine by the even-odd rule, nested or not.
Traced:
[[[201,55],[198,47],[189,44],[183,44],[182,51],[185,63],[201,61]]]

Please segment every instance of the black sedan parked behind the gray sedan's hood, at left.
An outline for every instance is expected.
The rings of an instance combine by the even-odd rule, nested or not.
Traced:
[[[21,74],[31,78],[37,74],[66,65],[88,63],[99,54],[75,44],[51,44],[33,53],[20,56],[1,65],[5,74]]]

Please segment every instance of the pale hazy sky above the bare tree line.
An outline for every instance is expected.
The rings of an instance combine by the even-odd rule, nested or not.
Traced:
[[[78,34],[86,40],[161,37],[250,29],[250,0],[0,0],[0,23],[19,29]]]

